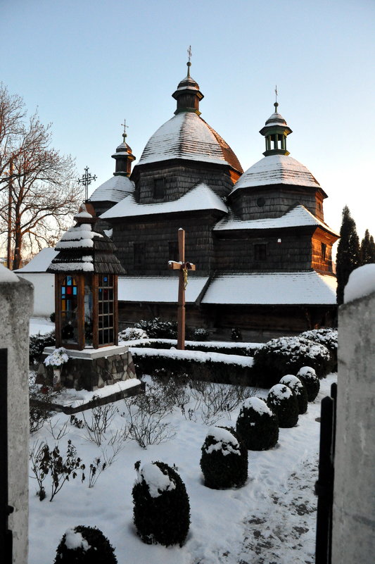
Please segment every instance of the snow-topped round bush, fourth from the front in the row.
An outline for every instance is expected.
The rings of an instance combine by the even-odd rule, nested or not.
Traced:
[[[250,451],[267,451],[279,439],[277,417],[263,399],[248,398],[237,418],[236,432]]]

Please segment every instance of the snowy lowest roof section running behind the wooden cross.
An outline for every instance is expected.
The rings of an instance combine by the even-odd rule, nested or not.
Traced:
[[[167,268],[167,265],[165,265]],[[186,302],[198,299],[208,277],[188,277]],[[179,279],[171,276],[119,276],[119,301],[174,303],[178,299]]]

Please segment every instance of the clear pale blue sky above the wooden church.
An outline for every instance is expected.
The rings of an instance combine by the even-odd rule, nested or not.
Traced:
[[[191,45],[202,118],[243,169],[262,158],[277,84],[326,223],[339,230],[348,205],[375,237],[374,22],[373,0],[0,0],[0,81],[52,124],[79,176],[97,176],[90,194],[115,170],[124,119],[138,161],[172,117]]]

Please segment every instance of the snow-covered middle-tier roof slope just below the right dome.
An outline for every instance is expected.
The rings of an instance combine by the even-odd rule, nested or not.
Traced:
[[[236,215],[230,215],[220,220],[214,227],[216,231],[230,231],[239,229],[282,229],[284,227],[302,227],[312,225],[323,227],[325,230],[338,236],[326,223],[316,218],[305,206],[298,205],[281,215],[280,218],[262,218],[258,220],[243,221]]]

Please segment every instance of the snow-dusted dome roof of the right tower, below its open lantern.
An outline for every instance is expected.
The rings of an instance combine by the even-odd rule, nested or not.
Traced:
[[[248,170],[237,180],[231,194],[240,188],[253,188],[267,184],[293,184],[320,187],[305,165],[287,155],[269,155]]]

